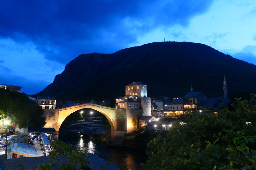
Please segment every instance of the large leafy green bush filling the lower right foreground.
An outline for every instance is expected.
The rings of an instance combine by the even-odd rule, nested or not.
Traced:
[[[256,169],[255,97],[236,99],[234,111],[225,108],[219,116],[185,115],[184,125],[177,121],[167,137],[148,143],[144,169]]]

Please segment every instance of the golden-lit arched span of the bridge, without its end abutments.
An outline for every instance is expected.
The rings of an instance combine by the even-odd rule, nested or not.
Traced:
[[[59,109],[58,125],[56,127],[56,131],[59,131],[60,126],[70,114],[84,108],[91,108],[101,112],[108,119],[111,126],[111,134],[113,135],[114,129],[115,129],[115,109],[111,107],[102,106],[99,104],[94,104],[94,103],[79,104],[77,106],[71,106],[71,107]]]

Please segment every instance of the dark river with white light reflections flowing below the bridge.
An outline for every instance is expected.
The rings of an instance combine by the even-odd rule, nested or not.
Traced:
[[[127,163],[127,168],[141,169],[141,163],[145,163],[147,155],[144,151],[135,151],[131,149],[120,149],[114,147],[106,147],[98,140],[90,140],[88,137],[77,133],[71,132],[59,132],[59,140],[63,142],[72,143],[76,149],[81,149],[83,151],[95,154],[109,160],[114,163],[120,169],[122,169],[123,164]]]

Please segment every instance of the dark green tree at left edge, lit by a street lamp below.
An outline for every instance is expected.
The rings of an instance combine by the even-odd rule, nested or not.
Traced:
[[[38,104],[28,98],[25,93],[0,89],[0,121],[10,120],[9,125],[19,125],[19,128],[44,126],[43,110]]]

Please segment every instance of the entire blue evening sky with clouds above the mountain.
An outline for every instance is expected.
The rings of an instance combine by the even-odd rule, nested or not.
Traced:
[[[256,1],[2,1],[0,84],[35,94],[80,54],[164,38],[206,44],[256,64]]]

